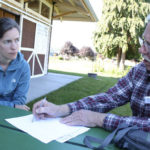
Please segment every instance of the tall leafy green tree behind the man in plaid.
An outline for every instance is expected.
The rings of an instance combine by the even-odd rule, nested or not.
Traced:
[[[102,17],[94,33],[96,51],[106,57],[117,56],[117,65],[124,69],[126,53],[139,57],[138,37],[150,12],[149,1],[103,0]],[[131,58],[131,55],[130,55]]]

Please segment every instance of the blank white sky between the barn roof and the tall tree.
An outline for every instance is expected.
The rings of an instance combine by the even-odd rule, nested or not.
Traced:
[[[98,18],[100,18],[102,0],[89,1]],[[78,49],[89,46],[95,51],[92,36],[96,24],[96,22],[53,21],[51,52],[59,52],[67,41],[72,42]]]

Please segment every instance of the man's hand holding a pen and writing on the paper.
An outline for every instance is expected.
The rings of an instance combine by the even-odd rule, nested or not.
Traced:
[[[33,114],[38,119],[61,117],[69,114],[68,105],[56,105],[46,100],[41,100],[34,104]]]

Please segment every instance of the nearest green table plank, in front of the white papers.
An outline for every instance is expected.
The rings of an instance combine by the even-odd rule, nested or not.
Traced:
[[[58,143],[52,141],[48,144],[42,143],[32,136],[0,127],[0,149],[1,150],[81,150],[80,146]],[[87,148],[82,148],[88,150]]]

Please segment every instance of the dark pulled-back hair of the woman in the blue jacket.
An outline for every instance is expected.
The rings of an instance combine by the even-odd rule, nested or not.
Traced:
[[[8,30],[16,28],[20,32],[19,25],[11,18],[0,18],[0,38],[3,37],[4,33]]]

